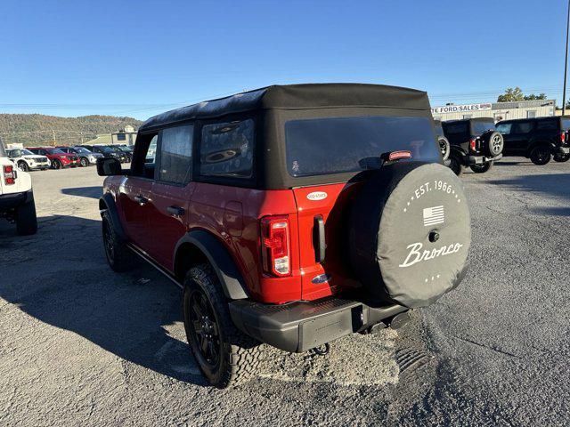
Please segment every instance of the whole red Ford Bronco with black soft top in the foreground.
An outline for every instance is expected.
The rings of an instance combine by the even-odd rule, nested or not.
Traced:
[[[217,387],[258,344],[305,351],[398,326],[458,286],[468,204],[442,165],[428,96],[384,85],[282,85],[151,117],[131,168],[98,159],[105,254],[183,287]]]

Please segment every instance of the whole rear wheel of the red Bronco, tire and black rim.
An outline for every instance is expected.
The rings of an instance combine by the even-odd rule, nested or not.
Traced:
[[[208,264],[186,275],[183,318],[191,352],[208,383],[224,389],[246,381],[259,366],[258,342],[233,325],[224,292]]]

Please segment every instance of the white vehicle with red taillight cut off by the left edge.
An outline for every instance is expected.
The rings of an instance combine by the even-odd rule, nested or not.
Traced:
[[[0,140],[0,218],[16,223],[21,235],[37,231],[36,204],[32,179],[8,158]]]

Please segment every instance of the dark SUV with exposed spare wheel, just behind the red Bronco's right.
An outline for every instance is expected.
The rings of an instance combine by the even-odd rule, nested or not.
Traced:
[[[493,118],[448,120],[442,126],[452,146],[449,167],[455,174],[459,175],[463,166],[485,173],[502,157],[502,136],[496,132]]]

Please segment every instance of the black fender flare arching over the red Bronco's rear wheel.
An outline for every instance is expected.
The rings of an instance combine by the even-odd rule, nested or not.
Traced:
[[[224,295],[230,300],[245,300],[248,298],[247,287],[241,277],[240,271],[232,260],[228,250],[205,230],[192,230],[183,236],[175,246],[175,265],[177,270],[178,250],[184,244],[191,244],[208,258],[208,262],[216,272],[216,276],[224,289]]]

